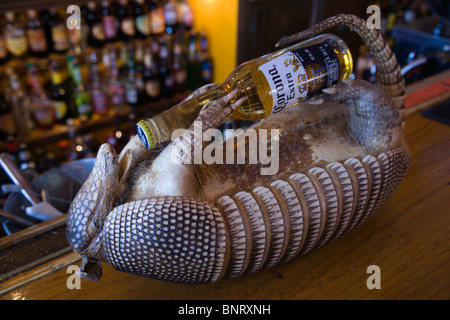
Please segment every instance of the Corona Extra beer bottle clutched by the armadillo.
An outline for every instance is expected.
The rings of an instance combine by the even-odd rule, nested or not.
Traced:
[[[140,121],[138,134],[147,148],[153,148],[170,140],[173,130],[187,128],[203,106],[235,89],[235,101],[248,99],[229,119],[261,120],[320,94],[352,71],[352,56],[344,41],[321,35],[240,65],[222,85]]]

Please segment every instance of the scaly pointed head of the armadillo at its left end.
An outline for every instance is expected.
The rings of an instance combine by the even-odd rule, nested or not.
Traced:
[[[83,257],[82,275],[86,271],[84,269],[96,264],[99,266],[99,262],[95,262],[101,259],[100,231],[106,216],[117,202],[119,168],[114,148],[103,144],[91,174],[69,208],[66,235],[72,249]]]

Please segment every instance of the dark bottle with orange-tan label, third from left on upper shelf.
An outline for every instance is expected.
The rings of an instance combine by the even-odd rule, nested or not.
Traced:
[[[66,20],[55,7],[50,8],[47,21],[49,45],[54,53],[66,53],[70,47],[69,33]]]

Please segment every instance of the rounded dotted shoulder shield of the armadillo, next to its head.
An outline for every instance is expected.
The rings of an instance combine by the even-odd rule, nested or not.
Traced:
[[[135,201],[105,221],[103,254],[115,269],[185,283],[214,282],[225,271],[228,231],[218,209],[183,197]]]

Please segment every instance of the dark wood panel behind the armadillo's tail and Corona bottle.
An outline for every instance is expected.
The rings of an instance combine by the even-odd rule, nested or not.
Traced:
[[[347,13],[366,16],[370,1],[240,0],[238,64],[274,51],[275,43],[330,16]],[[345,28],[331,30],[358,53],[359,37]]]

